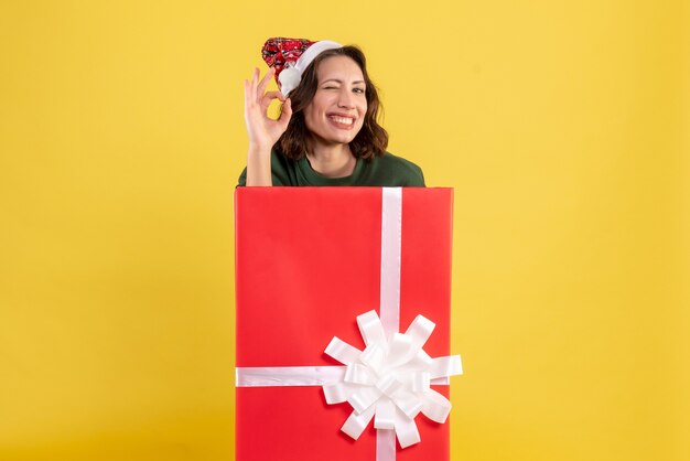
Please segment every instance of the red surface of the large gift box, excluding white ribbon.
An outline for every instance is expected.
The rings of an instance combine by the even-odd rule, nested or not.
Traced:
[[[333,336],[365,349],[355,319],[379,311],[381,303],[382,191],[236,190],[238,369],[342,366],[324,353]],[[424,351],[448,356],[452,190],[409,187],[397,193],[399,325],[405,331],[418,314],[435,322]],[[432,388],[449,395],[446,385]],[[353,440],[341,431],[353,408],[347,403],[327,405],[320,386],[238,385],[236,397],[238,461],[376,459],[374,421]],[[440,425],[422,415],[414,421],[421,442],[406,449],[398,444],[396,459],[448,460],[448,421]]]

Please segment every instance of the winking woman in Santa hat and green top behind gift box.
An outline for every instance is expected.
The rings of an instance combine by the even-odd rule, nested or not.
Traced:
[[[386,152],[358,47],[278,37],[262,55],[270,71],[245,81],[249,151],[239,185],[424,185],[419,167]],[[266,92],[272,76],[280,92]],[[273,99],[283,103],[277,120],[267,112]]]

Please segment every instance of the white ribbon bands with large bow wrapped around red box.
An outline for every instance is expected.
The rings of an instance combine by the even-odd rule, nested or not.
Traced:
[[[451,403],[430,388],[462,374],[460,355],[430,357],[422,349],[435,324],[417,315],[408,330],[400,324],[400,243],[402,189],[382,189],[380,319],[376,311],[357,317],[364,351],[334,336],[325,352],[345,366],[238,367],[236,385],[322,386],[328,404],[353,407],[341,430],[353,439],[374,419],[376,460],[395,461],[396,443],[419,443],[414,418],[421,412],[445,422]]]

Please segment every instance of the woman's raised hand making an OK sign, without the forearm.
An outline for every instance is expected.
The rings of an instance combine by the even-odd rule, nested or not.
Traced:
[[[274,74],[276,69],[271,67],[259,82],[259,69],[255,68],[251,82],[245,81],[245,122],[250,147],[270,149],[288,129],[288,122],[292,116],[290,99],[280,92],[265,93]],[[278,120],[268,116],[268,106],[273,99],[283,103],[282,114]]]

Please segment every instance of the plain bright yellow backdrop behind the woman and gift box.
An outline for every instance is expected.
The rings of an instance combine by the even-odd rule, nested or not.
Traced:
[[[229,460],[242,79],[359,44],[455,187],[453,460],[687,460],[682,0],[3,1],[0,460]]]

